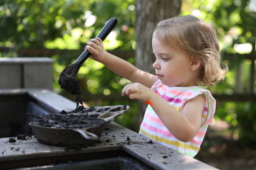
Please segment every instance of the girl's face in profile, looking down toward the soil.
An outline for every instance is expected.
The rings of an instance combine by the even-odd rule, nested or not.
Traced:
[[[173,46],[177,46],[175,42]],[[190,57],[184,51],[160,43],[155,37],[152,39],[153,52],[156,61],[153,68],[156,70],[157,78],[162,84],[173,87],[188,87],[198,85],[195,75],[190,69]],[[178,46],[177,46],[178,47]]]

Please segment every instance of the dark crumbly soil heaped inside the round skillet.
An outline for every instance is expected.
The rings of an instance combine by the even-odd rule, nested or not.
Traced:
[[[101,126],[106,123],[98,115],[61,115],[48,114],[32,120],[31,124],[48,128],[86,128]]]

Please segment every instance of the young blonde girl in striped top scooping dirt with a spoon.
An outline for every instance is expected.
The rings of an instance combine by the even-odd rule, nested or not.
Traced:
[[[104,51],[99,38],[88,41],[85,48],[92,59],[134,82],[124,86],[122,96],[151,105],[139,134],[194,157],[216,104],[211,93],[198,85],[213,86],[228,71],[221,63],[216,31],[191,15],[169,18],[156,25],[152,47],[156,75]]]

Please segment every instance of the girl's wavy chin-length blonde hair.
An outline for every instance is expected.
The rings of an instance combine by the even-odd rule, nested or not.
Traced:
[[[197,57],[202,62],[201,85],[213,86],[224,80],[228,66],[222,62],[218,35],[211,24],[192,15],[177,16],[158,22],[153,37],[166,45],[175,40],[178,48]]]

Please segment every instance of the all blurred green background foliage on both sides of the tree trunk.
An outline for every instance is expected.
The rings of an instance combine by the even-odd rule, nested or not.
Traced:
[[[224,63],[229,72],[223,83],[208,89],[212,94],[234,93],[238,64],[243,65],[243,90],[248,91],[250,61],[244,60],[248,50],[255,43],[256,13],[249,11],[249,0],[183,0],[181,15],[192,14],[216,26]],[[12,48],[0,52],[0,57],[24,57],[20,48],[73,49],[84,48],[111,17],[118,24],[104,41],[109,49],[134,50],[136,46],[134,23],[134,0],[5,0],[0,1],[0,47]],[[95,23],[94,23],[95,21]],[[239,44],[246,48],[237,49]],[[251,46],[250,46],[251,45]],[[245,47],[245,46],[243,46]],[[248,48],[249,47],[249,48]],[[244,50],[244,51],[243,51]],[[247,50],[247,51],[246,51]],[[57,81],[60,72],[78,57],[78,53],[49,56],[54,63],[53,90],[63,94]],[[135,64],[134,58],[127,59]],[[83,89],[83,96],[103,94],[120,95],[129,81],[111,72],[102,64],[88,59],[80,68],[77,79]],[[127,104],[130,109],[116,122],[138,131],[139,109],[136,100],[88,101],[94,105]],[[255,141],[255,106],[250,102],[218,103],[215,119],[228,122],[228,132],[238,135],[245,144]],[[224,131],[223,133],[227,133]],[[248,139],[248,140],[246,140]]]

